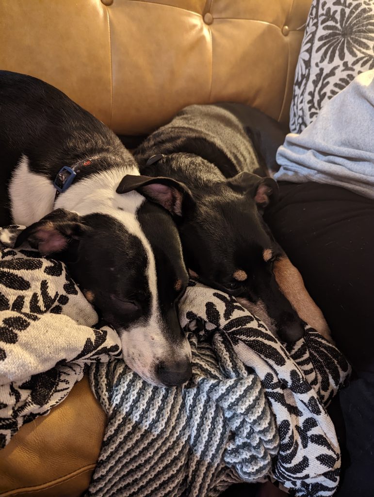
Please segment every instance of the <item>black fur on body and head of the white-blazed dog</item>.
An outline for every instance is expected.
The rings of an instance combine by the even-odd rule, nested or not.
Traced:
[[[61,91],[29,76],[0,71],[2,226],[21,224],[12,219],[8,186],[11,173],[23,155],[28,158],[29,170],[45,176],[51,183],[63,166],[72,166],[92,156],[98,159],[79,172],[74,184],[111,168],[123,169],[124,175],[129,167],[137,168],[134,158],[115,134]],[[34,192],[26,185],[23,194],[33,198]],[[63,196],[64,193],[60,198]],[[149,260],[143,241],[124,223],[100,213],[99,209],[81,216],[53,208],[51,205],[42,220],[27,227],[16,245],[27,239],[42,253],[64,260],[99,314],[117,329],[131,330],[147,320],[151,299]],[[169,214],[153,203],[145,201],[136,215],[155,257],[163,333],[178,345],[183,337],[176,303],[188,281],[178,232]],[[170,243],[165,244],[164,237],[170,237]],[[181,282],[177,291],[176,280]],[[191,372],[187,362],[179,376],[170,379],[166,371],[168,384],[185,381],[183,374]],[[164,365],[159,367],[165,369]]]

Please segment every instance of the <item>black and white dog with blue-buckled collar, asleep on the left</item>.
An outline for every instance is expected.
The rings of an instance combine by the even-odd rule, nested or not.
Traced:
[[[28,240],[66,262],[144,379],[188,380],[191,349],[177,311],[188,273],[178,232],[162,207],[132,188],[117,193],[139,170],[114,133],[53,86],[0,71],[0,163],[0,226],[27,227],[15,245]],[[152,189],[169,202],[167,185],[154,180]],[[6,230],[1,240],[10,242]]]

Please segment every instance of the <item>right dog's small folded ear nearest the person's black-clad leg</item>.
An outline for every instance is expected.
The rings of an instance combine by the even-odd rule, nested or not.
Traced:
[[[278,184],[270,177],[243,171],[228,179],[227,184],[235,191],[249,194],[259,207],[266,207],[278,199]]]

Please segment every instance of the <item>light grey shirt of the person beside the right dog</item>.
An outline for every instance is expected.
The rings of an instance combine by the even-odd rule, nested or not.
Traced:
[[[374,70],[326,102],[300,134],[277,152],[278,181],[316,181],[374,198]]]

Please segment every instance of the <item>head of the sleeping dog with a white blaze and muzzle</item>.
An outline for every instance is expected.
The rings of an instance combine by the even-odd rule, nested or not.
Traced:
[[[177,229],[170,215],[136,192],[135,215],[53,211],[18,236],[59,258],[98,314],[121,337],[125,362],[155,385],[181,385],[191,376],[191,349],[178,320],[186,289]],[[138,198],[139,197],[139,198]],[[118,207],[118,208],[117,208]]]

